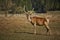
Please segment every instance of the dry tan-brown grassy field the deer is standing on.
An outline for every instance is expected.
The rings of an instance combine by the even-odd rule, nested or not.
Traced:
[[[0,15],[0,40],[60,40],[59,13],[48,12],[54,15],[49,24],[52,35],[46,34],[44,26],[37,26],[37,34],[33,34],[34,27],[27,21],[24,14],[14,14],[11,17]]]

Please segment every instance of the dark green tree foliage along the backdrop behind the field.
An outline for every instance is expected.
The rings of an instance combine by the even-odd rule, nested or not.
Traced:
[[[0,0],[0,9],[5,8],[7,10],[13,6],[15,10],[21,11],[25,6],[24,10],[30,11],[33,6],[41,9],[41,5],[44,5],[45,10],[60,9],[60,0]],[[18,7],[21,7],[21,9]]]

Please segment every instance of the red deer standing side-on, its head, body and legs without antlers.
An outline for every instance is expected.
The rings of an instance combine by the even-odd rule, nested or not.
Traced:
[[[31,16],[31,14],[26,14],[28,21],[34,26],[34,33],[36,34],[36,25],[44,25],[47,29],[47,32],[50,33],[51,29],[49,28],[49,19],[38,16]]]

